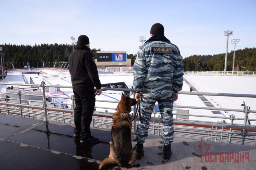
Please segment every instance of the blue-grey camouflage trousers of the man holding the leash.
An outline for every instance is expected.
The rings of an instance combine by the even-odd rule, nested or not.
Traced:
[[[173,130],[173,98],[174,93],[172,89],[150,91],[141,94],[141,114],[143,123],[137,125],[136,140],[139,143],[144,143],[145,139],[148,137],[148,128],[151,114],[153,112],[156,101],[158,102],[158,107],[161,113],[161,118],[163,122],[163,135],[165,145],[171,145],[174,138]]]

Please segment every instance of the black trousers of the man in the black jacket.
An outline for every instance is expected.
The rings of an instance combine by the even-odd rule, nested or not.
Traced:
[[[74,110],[74,121],[76,128],[74,134],[80,135],[80,139],[90,138],[90,125],[95,106],[94,89],[73,88],[76,107]]]

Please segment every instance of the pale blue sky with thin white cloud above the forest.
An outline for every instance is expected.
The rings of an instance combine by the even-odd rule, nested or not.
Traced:
[[[66,1],[1,0],[0,44],[62,43],[90,38],[91,48],[136,54],[139,36],[161,23],[181,55],[225,53],[224,30],[241,39],[236,49],[256,46],[256,1]],[[230,41],[229,41],[230,42]],[[229,44],[229,51],[234,49]]]

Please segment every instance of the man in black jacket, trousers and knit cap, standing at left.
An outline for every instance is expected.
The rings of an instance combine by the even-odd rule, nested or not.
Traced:
[[[94,86],[99,92],[98,96],[102,90],[97,66],[90,50],[89,38],[86,35],[80,35],[76,50],[68,58],[76,103],[74,137],[80,137],[81,143],[99,141],[99,138],[94,138],[91,135],[90,124],[95,106]]]

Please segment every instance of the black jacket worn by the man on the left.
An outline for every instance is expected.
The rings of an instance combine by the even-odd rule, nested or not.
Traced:
[[[69,73],[73,88],[101,89],[99,74],[94,57],[87,46],[76,46],[69,55]]]

